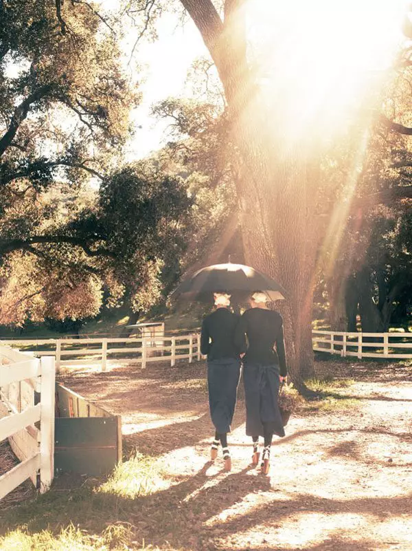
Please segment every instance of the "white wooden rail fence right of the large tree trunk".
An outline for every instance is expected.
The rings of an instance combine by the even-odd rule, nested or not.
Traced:
[[[411,333],[313,331],[312,341],[316,352],[340,354],[343,358],[412,359]]]

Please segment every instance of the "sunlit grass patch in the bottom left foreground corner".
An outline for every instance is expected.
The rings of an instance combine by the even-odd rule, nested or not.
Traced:
[[[89,479],[69,490],[56,486],[2,511],[0,551],[155,549],[141,543],[138,525],[148,499],[168,486],[161,464],[135,453],[105,481]]]

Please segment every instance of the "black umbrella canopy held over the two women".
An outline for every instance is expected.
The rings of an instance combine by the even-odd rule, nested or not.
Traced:
[[[171,294],[171,299],[180,296],[192,300],[211,299],[213,292],[227,292],[238,299],[246,298],[255,291],[262,291],[269,301],[286,298],[286,291],[271,277],[243,264],[214,264],[198,270],[185,279]]]

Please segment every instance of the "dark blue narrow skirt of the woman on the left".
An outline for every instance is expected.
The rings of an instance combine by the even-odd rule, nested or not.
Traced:
[[[222,358],[207,362],[210,416],[218,433],[231,431],[239,378],[240,360]]]

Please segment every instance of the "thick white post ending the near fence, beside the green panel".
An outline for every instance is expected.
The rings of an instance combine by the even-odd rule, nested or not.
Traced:
[[[54,477],[54,392],[56,371],[53,356],[43,356],[41,362],[40,417],[40,492],[46,492]]]

